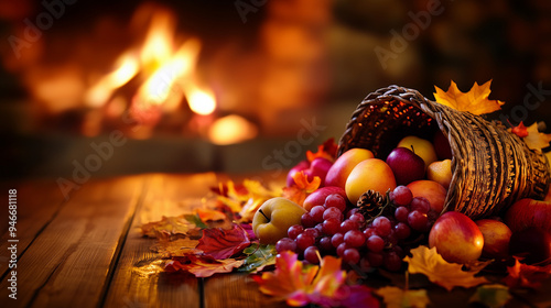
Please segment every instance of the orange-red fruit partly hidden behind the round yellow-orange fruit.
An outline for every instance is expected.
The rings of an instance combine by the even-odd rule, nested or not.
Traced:
[[[346,179],[352,169],[361,161],[374,158],[374,153],[366,148],[350,148],[338,156],[325,177],[325,186],[345,188]]]

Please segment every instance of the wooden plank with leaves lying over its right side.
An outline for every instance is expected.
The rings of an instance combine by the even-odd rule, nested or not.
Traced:
[[[159,255],[151,250],[154,240],[141,237],[139,227],[163,216],[180,216],[199,207],[216,175],[152,175],[147,196],[140,204],[125,243],[104,307],[201,307],[201,286],[194,276],[166,274],[147,266]]]

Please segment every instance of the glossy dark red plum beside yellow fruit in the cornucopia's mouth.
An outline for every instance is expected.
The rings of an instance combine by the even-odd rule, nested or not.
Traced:
[[[397,147],[387,156],[397,185],[408,185],[424,177],[425,165],[421,156],[407,147]]]

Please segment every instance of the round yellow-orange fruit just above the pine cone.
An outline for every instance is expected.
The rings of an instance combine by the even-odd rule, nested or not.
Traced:
[[[345,185],[346,197],[353,205],[356,205],[361,194],[369,189],[386,194],[387,190],[395,188],[396,178],[392,169],[379,158],[369,158],[357,164]]]

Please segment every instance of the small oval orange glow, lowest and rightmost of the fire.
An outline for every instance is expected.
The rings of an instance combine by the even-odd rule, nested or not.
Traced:
[[[255,124],[236,114],[216,120],[208,130],[208,139],[220,145],[244,142],[257,134],[258,129]]]

